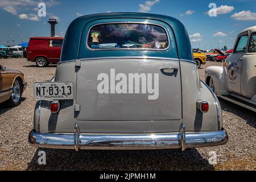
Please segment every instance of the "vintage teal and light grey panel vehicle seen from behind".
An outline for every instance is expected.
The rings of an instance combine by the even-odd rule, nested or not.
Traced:
[[[109,13],[69,26],[55,77],[36,82],[35,147],[144,150],[225,144],[221,106],[200,80],[183,24]]]

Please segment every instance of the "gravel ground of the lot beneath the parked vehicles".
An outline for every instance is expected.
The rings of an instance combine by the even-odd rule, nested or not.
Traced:
[[[27,143],[32,129],[33,83],[51,78],[56,65],[37,68],[26,59],[0,59],[0,64],[25,74],[28,87],[22,104],[15,108],[0,105],[0,170],[255,170],[256,114],[243,107],[220,100],[224,127],[229,142],[224,146],[180,150],[79,151],[37,149]],[[199,69],[221,63],[208,62]],[[46,152],[46,165],[38,164],[38,152]],[[217,164],[210,165],[210,151],[217,154]]]

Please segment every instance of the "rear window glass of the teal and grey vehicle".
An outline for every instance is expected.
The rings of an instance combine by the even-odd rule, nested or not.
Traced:
[[[165,50],[169,47],[166,30],[155,24],[110,23],[90,29],[90,49],[152,49]]]

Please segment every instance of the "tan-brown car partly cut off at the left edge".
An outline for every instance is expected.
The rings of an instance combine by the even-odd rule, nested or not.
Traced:
[[[5,106],[18,106],[26,87],[22,72],[0,65],[0,104],[5,102]]]

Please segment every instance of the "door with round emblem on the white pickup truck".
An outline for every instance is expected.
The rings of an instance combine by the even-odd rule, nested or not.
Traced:
[[[226,89],[229,92],[241,95],[241,75],[243,58],[246,53],[248,43],[248,33],[243,33],[238,36],[236,46],[232,55],[226,61]]]

